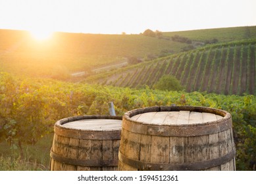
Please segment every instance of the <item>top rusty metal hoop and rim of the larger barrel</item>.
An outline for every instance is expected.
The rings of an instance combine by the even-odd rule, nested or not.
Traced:
[[[159,112],[159,111],[178,111],[178,110],[190,110],[195,112],[211,112],[222,116],[220,120],[213,122],[207,122],[203,124],[192,125],[152,125],[145,122],[138,122],[132,120],[130,117],[136,114],[145,112]],[[232,118],[228,112],[224,110],[218,110],[215,108],[197,107],[197,106],[153,106],[150,108],[141,108],[132,110],[124,114],[122,119],[122,129],[131,131],[133,133],[139,133],[143,135],[155,135],[163,137],[192,137],[199,135],[209,135],[232,129]]]

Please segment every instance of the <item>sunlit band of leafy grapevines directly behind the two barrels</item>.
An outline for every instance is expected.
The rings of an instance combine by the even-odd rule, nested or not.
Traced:
[[[147,70],[147,69],[145,69]],[[256,152],[256,97],[159,91],[149,87],[131,89],[54,80],[22,79],[0,73],[0,141],[11,145],[34,144],[54,123],[69,116],[109,114],[108,102],[116,114],[134,108],[184,104],[221,108],[232,114],[238,170],[253,170]]]

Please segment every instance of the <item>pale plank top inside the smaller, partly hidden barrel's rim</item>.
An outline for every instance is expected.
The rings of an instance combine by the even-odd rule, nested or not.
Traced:
[[[110,130],[121,129],[122,120],[112,120],[112,119],[78,120],[75,122],[68,122],[66,124],[63,124],[62,126],[71,128],[71,129],[110,131]]]

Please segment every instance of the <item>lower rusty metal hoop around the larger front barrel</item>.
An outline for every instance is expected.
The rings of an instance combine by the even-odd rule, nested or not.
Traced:
[[[124,156],[124,154],[118,153],[118,159],[120,162],[132,166],[133,168],[137,168],[138,170],[148,170],[148,171],[186,171],[186,170],[206,170],[209,168],[214,168],[216,166],[220,166],[232,160],[236,156],[236,150],[228,152],[224,156],[220,156],[218,158],[213,158],[211,160],[205,160],[201,162],[192,162],[192,163],[183,163],[183,164],[165,164],[165,163],[149,163],[142,162],[140,160],[134,160]]]

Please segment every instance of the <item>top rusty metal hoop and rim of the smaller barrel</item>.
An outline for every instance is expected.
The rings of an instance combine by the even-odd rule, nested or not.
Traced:
[[[91,139],[91,140],[118,140],[121,136],[121,130],[113,131],[91,131],[80,130],[63,127],[63,124],[68,122],[74,122],[78,120],[90,120],[90,119],[112,119],[122,120],[122,116],[109,116],[109,115],[88,115],[88,116],[74,116],[70,118],[64,118],[55,123],[54,132],[57,135],[63,137],[70,137],[74,139]]]

